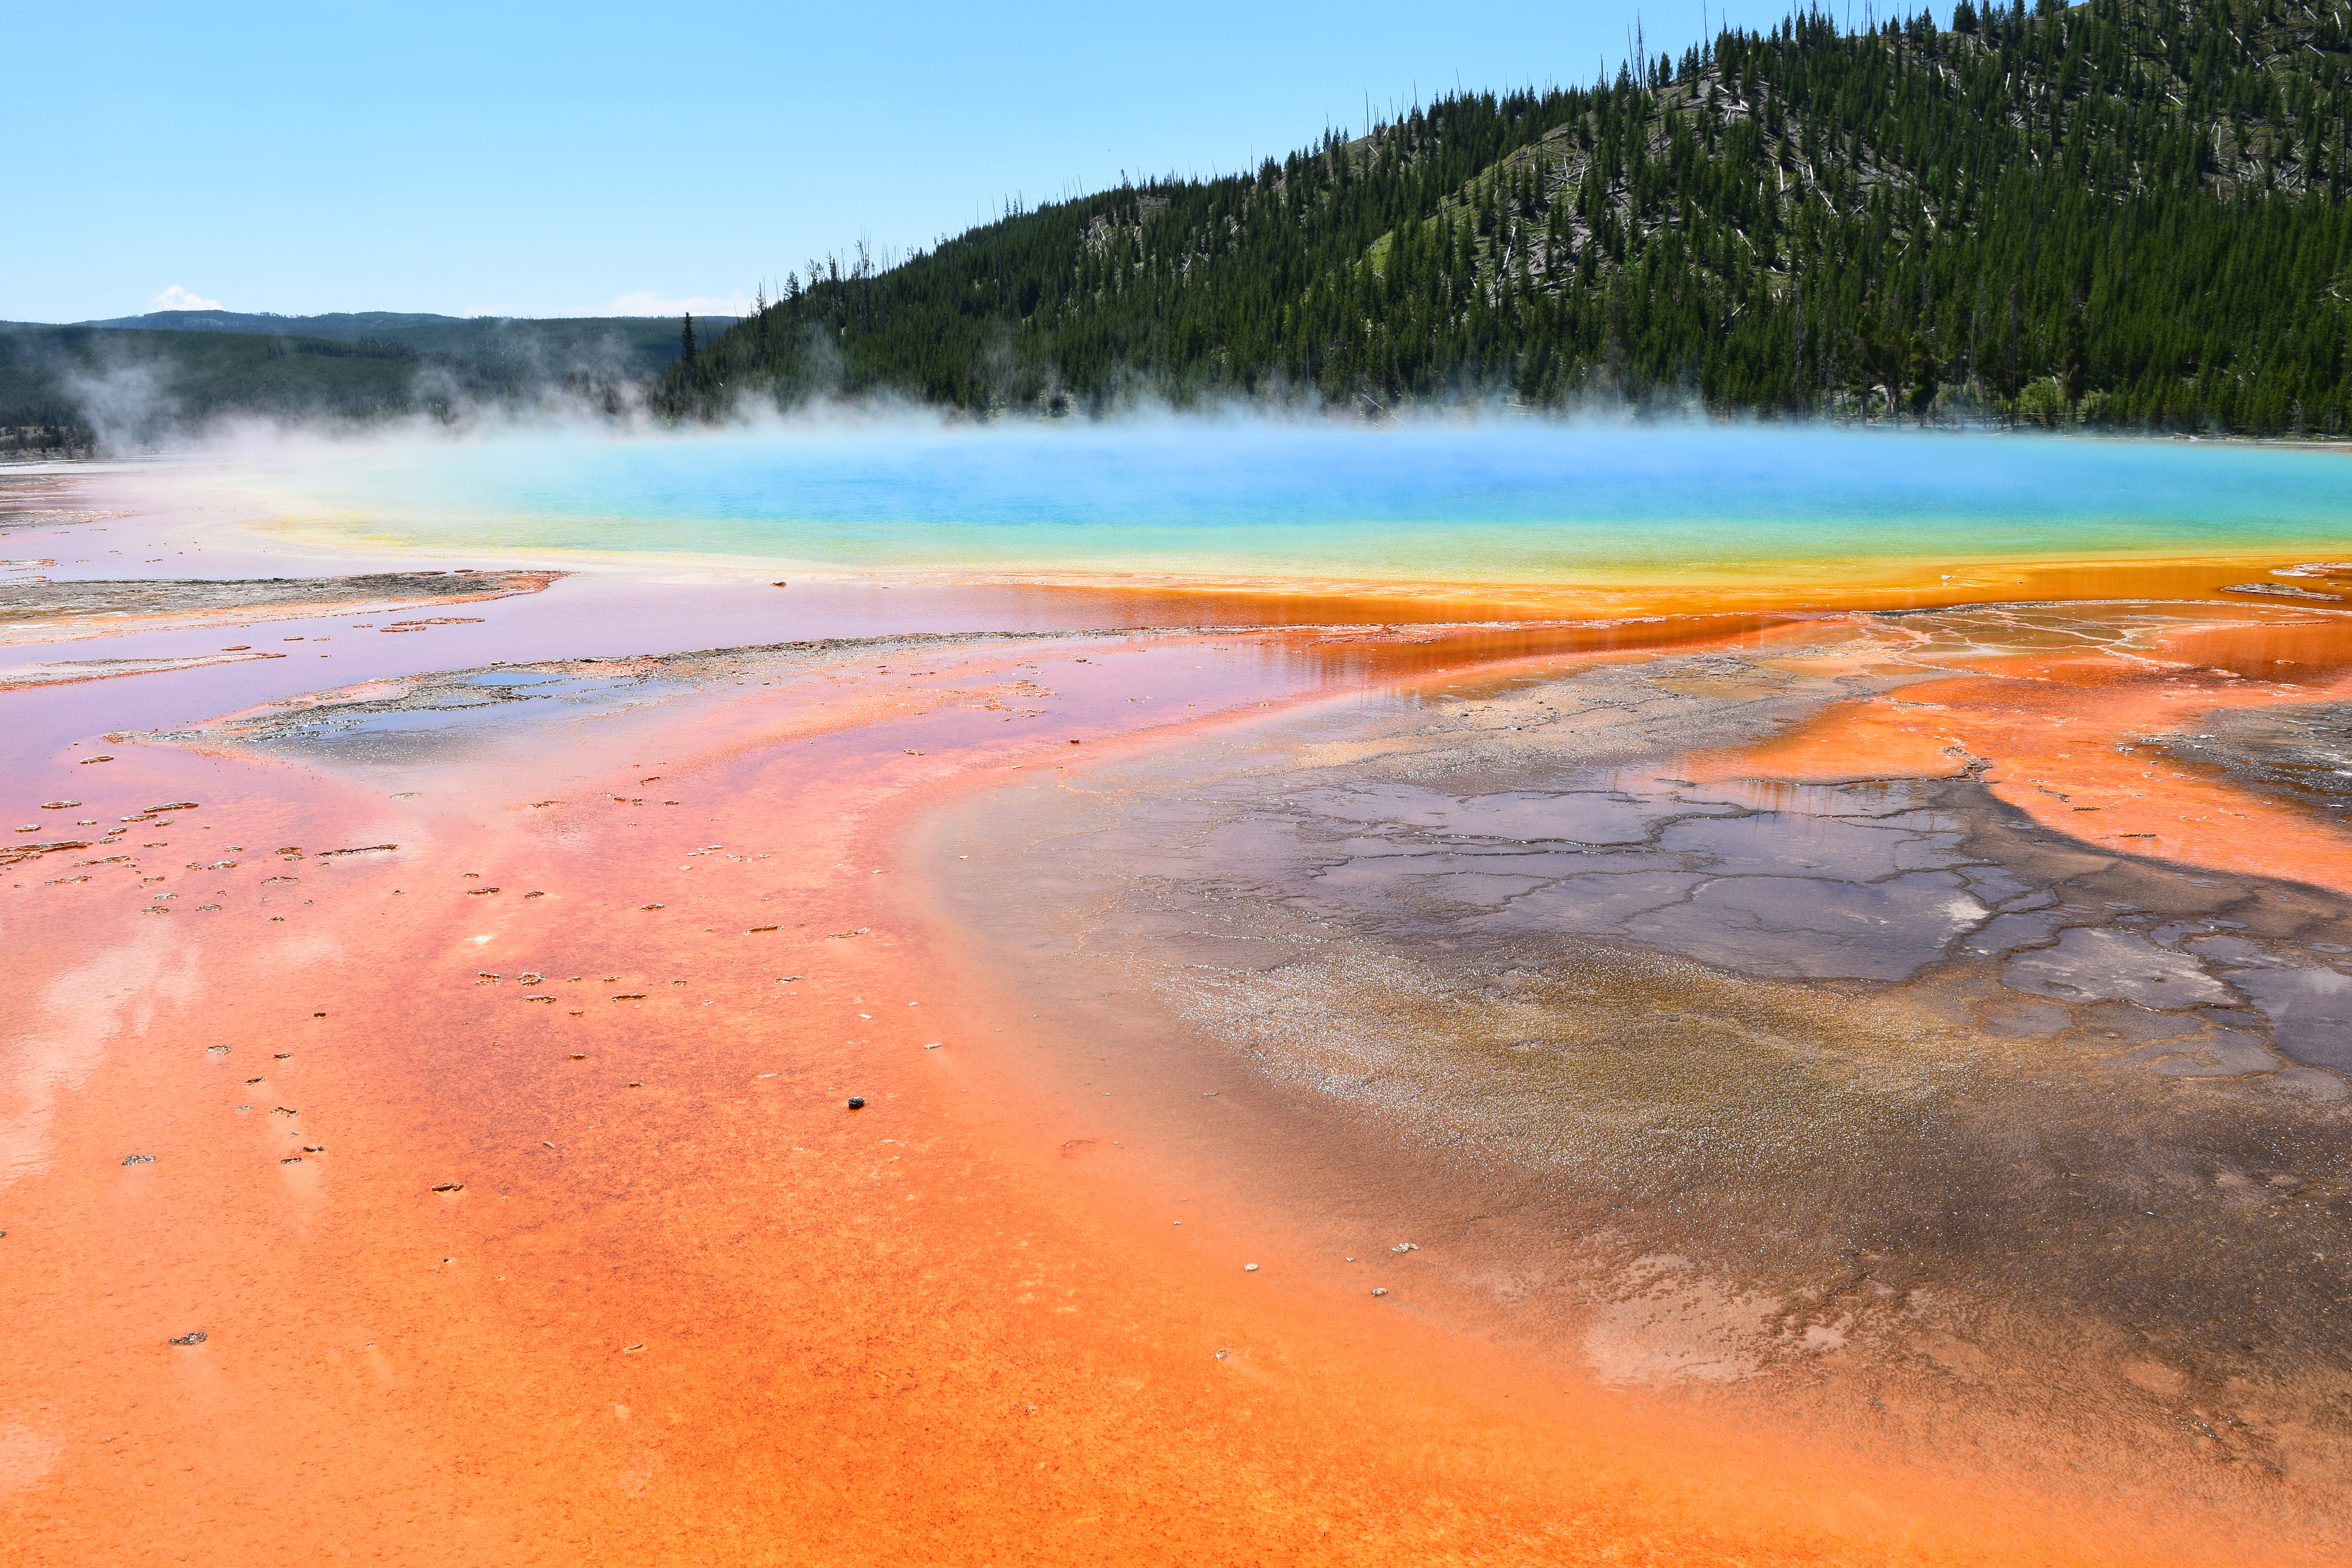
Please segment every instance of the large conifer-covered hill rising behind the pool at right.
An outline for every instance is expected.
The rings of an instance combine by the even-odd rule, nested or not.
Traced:
[[[811,266],[656,402],[1312,388],[2343,433],[2347,16],[1806,12],[1254,174],[1014,212],[887,270]]]

